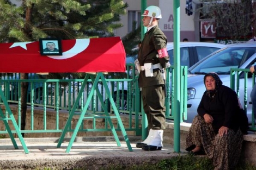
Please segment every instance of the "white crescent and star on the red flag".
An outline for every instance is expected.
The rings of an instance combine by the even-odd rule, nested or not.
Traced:
[[[34,41],[32,41],[34,42]],[[13,45],[10,46],[10,48],[14,47],[22,47],[27,50],[27,44],[32,43],[32,42],[14,42]],[[75,45],[69,49],[68,51],[65,51],[62,53],[62,55],[54,55],[54,56],[48,56],[49,58],[56,59],[56,60],[63,60],[63,59],[69,59],[73,56],[75,56],[78,53],[81,53],[84,51],[90,43],[90,39],[76,39]]]

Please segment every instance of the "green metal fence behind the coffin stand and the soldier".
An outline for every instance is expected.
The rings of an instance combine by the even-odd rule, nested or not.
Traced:
[[[120,115],[125,115],[129,118],[129,127],[125,127],[126,131],[135,131],[136,135],[142,134],[141,118],[142,118],[142,106],[141,106],[141,93],[138,87],[138,76],[136,75],[135,65],[126,64],[127,71],[123,78],[112,78],[112,75],[104,75],[107,81],[108,88],[112,93],[115,105],[117,106]],[[186,119],[186,102],[187,102],[187,67],[181,66],[181,92],[183,96],[181,98],[181,122]],[[173,105],[173,86],[174,67],[170,67],[167,70],[166,80],[166,118],[173,119],[172,105]],[[119,73],[115,73],[118,75]],[[39,79],[36,74],[30,73],[29,79],[21,80],[20,74],[9,74],[1,77],[1,88],[4,92],[4,96],[8,100],[8,104],[17,105],[17,124],[21,129],[21,82],[27,82],[28,95],[27,106],[31,109],[31,124],[29,129],[21,130],[21,133],[59,133],[63,129],[59,129],[59,112],[66,111],[70,114],[71,109],[74,107],[77,112],[83,110],[84,104],[87,101],[87,97],[92,88],[92,80],[89,79],[84,89],[81,89],[84,79]],[[103,88],[101,81],[97,84],[97,87],[102,95],[105,105],[109,113],[113,113],[113,109],[109,104],[108,96]],[[81,98],[76,105],[75,101],[79,91],[83,91]],[[3,105],[3,101],[0,97],[0,104]],[[43,128],[34,128],[34,110],[41,109],[43,112]],[[47,129],[47,112],[55,112],[56,129]],[[92,100],[87,109],[88,114],[100,115],[103,113],[102,103],[100,97],[94,92]],[[7,111],[5,115],[8,116]],[[92,121],[96,122],[96,118],[92,117]],[[0,121],[1,122],[1,121]],[[107,122],[107,120],[105,120]],[[143,122],[143,121],[142,121]],[[107,123],[106,123],[107,124]],[[120,130],[119,127],[115,127],[116,130]],[[109,126],[105,126],[104,129],[97,129],[96,125],[92,129],[81,128],[79,131],[110,131]],[[72,129],[70,129],[72,131]],[[6,134],[6,129],[1,130],[0,134]]]

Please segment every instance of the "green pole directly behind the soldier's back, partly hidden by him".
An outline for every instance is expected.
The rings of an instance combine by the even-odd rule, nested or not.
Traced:
[[[143,14],[144,10],[147,8],[147,0],[141,0],[141,12]],[[142,17],[143,18],[143,17]],[[147,28],[143,26],[141,23],[141,40],[144,38],[144,34],[147,32]],[[142,99],[141,99],[142,100]],[[141,101],[142,103],[142,101]],[[145,140],[148,136],[148,119],[147,116],[143,110],[143,107],[141,107],[142,110],[142,140]]]

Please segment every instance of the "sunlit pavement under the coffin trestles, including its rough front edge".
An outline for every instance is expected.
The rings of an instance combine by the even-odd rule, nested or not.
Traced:
[[[66,147],[69,138],[57,148],[58,138],[24,138],[29,153],[22,148],[19,138],[15,149],[9,138],[0,139],[0,169],[100,169],[109,165],[139,165],[155,163],[161,159],[186,154],[184,150],[174,153],[172,146],[163,144],[162,150],[144,151],[136,148],[138,137],[129,137],[133,151],[130,152],[124,141],[117,146],[113,137],[77,137],[69,153]],[[120,139],[121,140],[121,139]]]

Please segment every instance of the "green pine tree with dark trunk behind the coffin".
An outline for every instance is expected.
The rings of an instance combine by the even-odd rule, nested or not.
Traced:
[[[67,40],[113,36],[114,29],[122,27],[122,24],[117,22],[127,8],[127,4],[121,0],[22,0],[21,2],[21,6],[17,7],[9,0],[0,0],[0,42],[2,43],[38,41],[45,37]],[[22,73],[20,78],[28,79],[28,74]],[[28,83],[22,83],[21,88],[21,130],[24,130]]]

